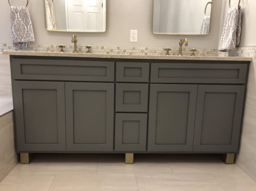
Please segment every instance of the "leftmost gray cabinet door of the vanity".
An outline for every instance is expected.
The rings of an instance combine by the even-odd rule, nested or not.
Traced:
[[[63,82],[13,82],[18,152],[65,151]]]

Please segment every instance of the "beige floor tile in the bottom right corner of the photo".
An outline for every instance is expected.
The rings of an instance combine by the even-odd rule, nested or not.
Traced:
[[[256,182],[247,174],[214,175],[225,191],[256,191]]]

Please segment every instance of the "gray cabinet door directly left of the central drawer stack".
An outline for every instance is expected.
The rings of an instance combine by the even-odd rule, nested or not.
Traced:
[[[65,83],[68,151],[113,151],[114,84]]]

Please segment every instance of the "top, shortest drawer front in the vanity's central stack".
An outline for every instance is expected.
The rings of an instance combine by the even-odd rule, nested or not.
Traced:
[[[116,63],[117,82],[149,82],[149,63]]]

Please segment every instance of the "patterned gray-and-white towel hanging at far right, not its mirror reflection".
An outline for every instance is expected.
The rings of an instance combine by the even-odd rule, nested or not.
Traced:
[[[242,28],[242,8],[236,5],[228,10],[221,35],[219,51],[228,52],[240,45]]]

